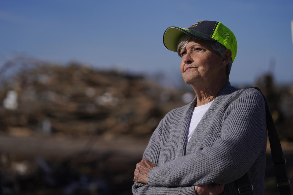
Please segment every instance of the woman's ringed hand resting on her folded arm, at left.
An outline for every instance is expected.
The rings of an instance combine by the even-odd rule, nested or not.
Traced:
[[[147,177],[149,176],[150,169],[157,166],[157,164],[146,159],[141,160],[136,164],[134,171],[135,182],[147,184]]]

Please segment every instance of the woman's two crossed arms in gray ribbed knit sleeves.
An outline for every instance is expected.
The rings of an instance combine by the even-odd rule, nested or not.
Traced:
[[[255,103],[243,104],[242,106],[246,107],[245,113],[238,105],[238,108],[227,116],[222,125],[221,138],[212,147],[198,149],[192,154],[156,166],[159,153],[154,151],[160,151],[160,134],[163,128],[161,121],[143,155],[150,163],[146,160],[138,163],[138,166],[146,171],[146,175],[143,178],[140,176],[139,167],[136,169],[137,182],[141,183],[133,185],[133,193],[195,194],[194,190],[212,186],[206,184],[230,183],[241,177],[254,163],[262,148],[261,145],[266,141],[264,104],[260,102],[263,100],[255,95],[249,98]],[[233,123],[235,119],[238,121],[237,124]],[[145,168],[146,163],[151,167],[149,170]]]

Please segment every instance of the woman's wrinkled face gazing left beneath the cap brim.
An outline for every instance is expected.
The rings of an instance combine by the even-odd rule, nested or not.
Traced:
[[[187,84],[211,82],[225,76],[220,73],[222,56],[211,47],[210,42],[191,40],[180,52],[182,60],[180,70]]]

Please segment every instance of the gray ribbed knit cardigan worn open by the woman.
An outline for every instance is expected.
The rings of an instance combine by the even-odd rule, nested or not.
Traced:
[[[266,116],[261,93],[228,81],[186,145],[196,98],[170,111],[155,129],[143,158],[158,166],[148,184],[134,183],[133,194],[195,194],[194,186],[226,184],[221,195],[239,194],[235,180],[248,172],[254,194],[263,194],[266,165]]]

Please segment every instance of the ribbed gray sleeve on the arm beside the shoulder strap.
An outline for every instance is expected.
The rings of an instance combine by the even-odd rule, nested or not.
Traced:
[[[216,117],[221,121],[220,135],[215,137],[214,143],[152,168],[148,175],[149,186],[224,184],[248,172],[266,146],[262,95],[254,89],[246,90],[224,112],[219,113],[222,114]],[[212,125],[218,128],[217,124]]]

